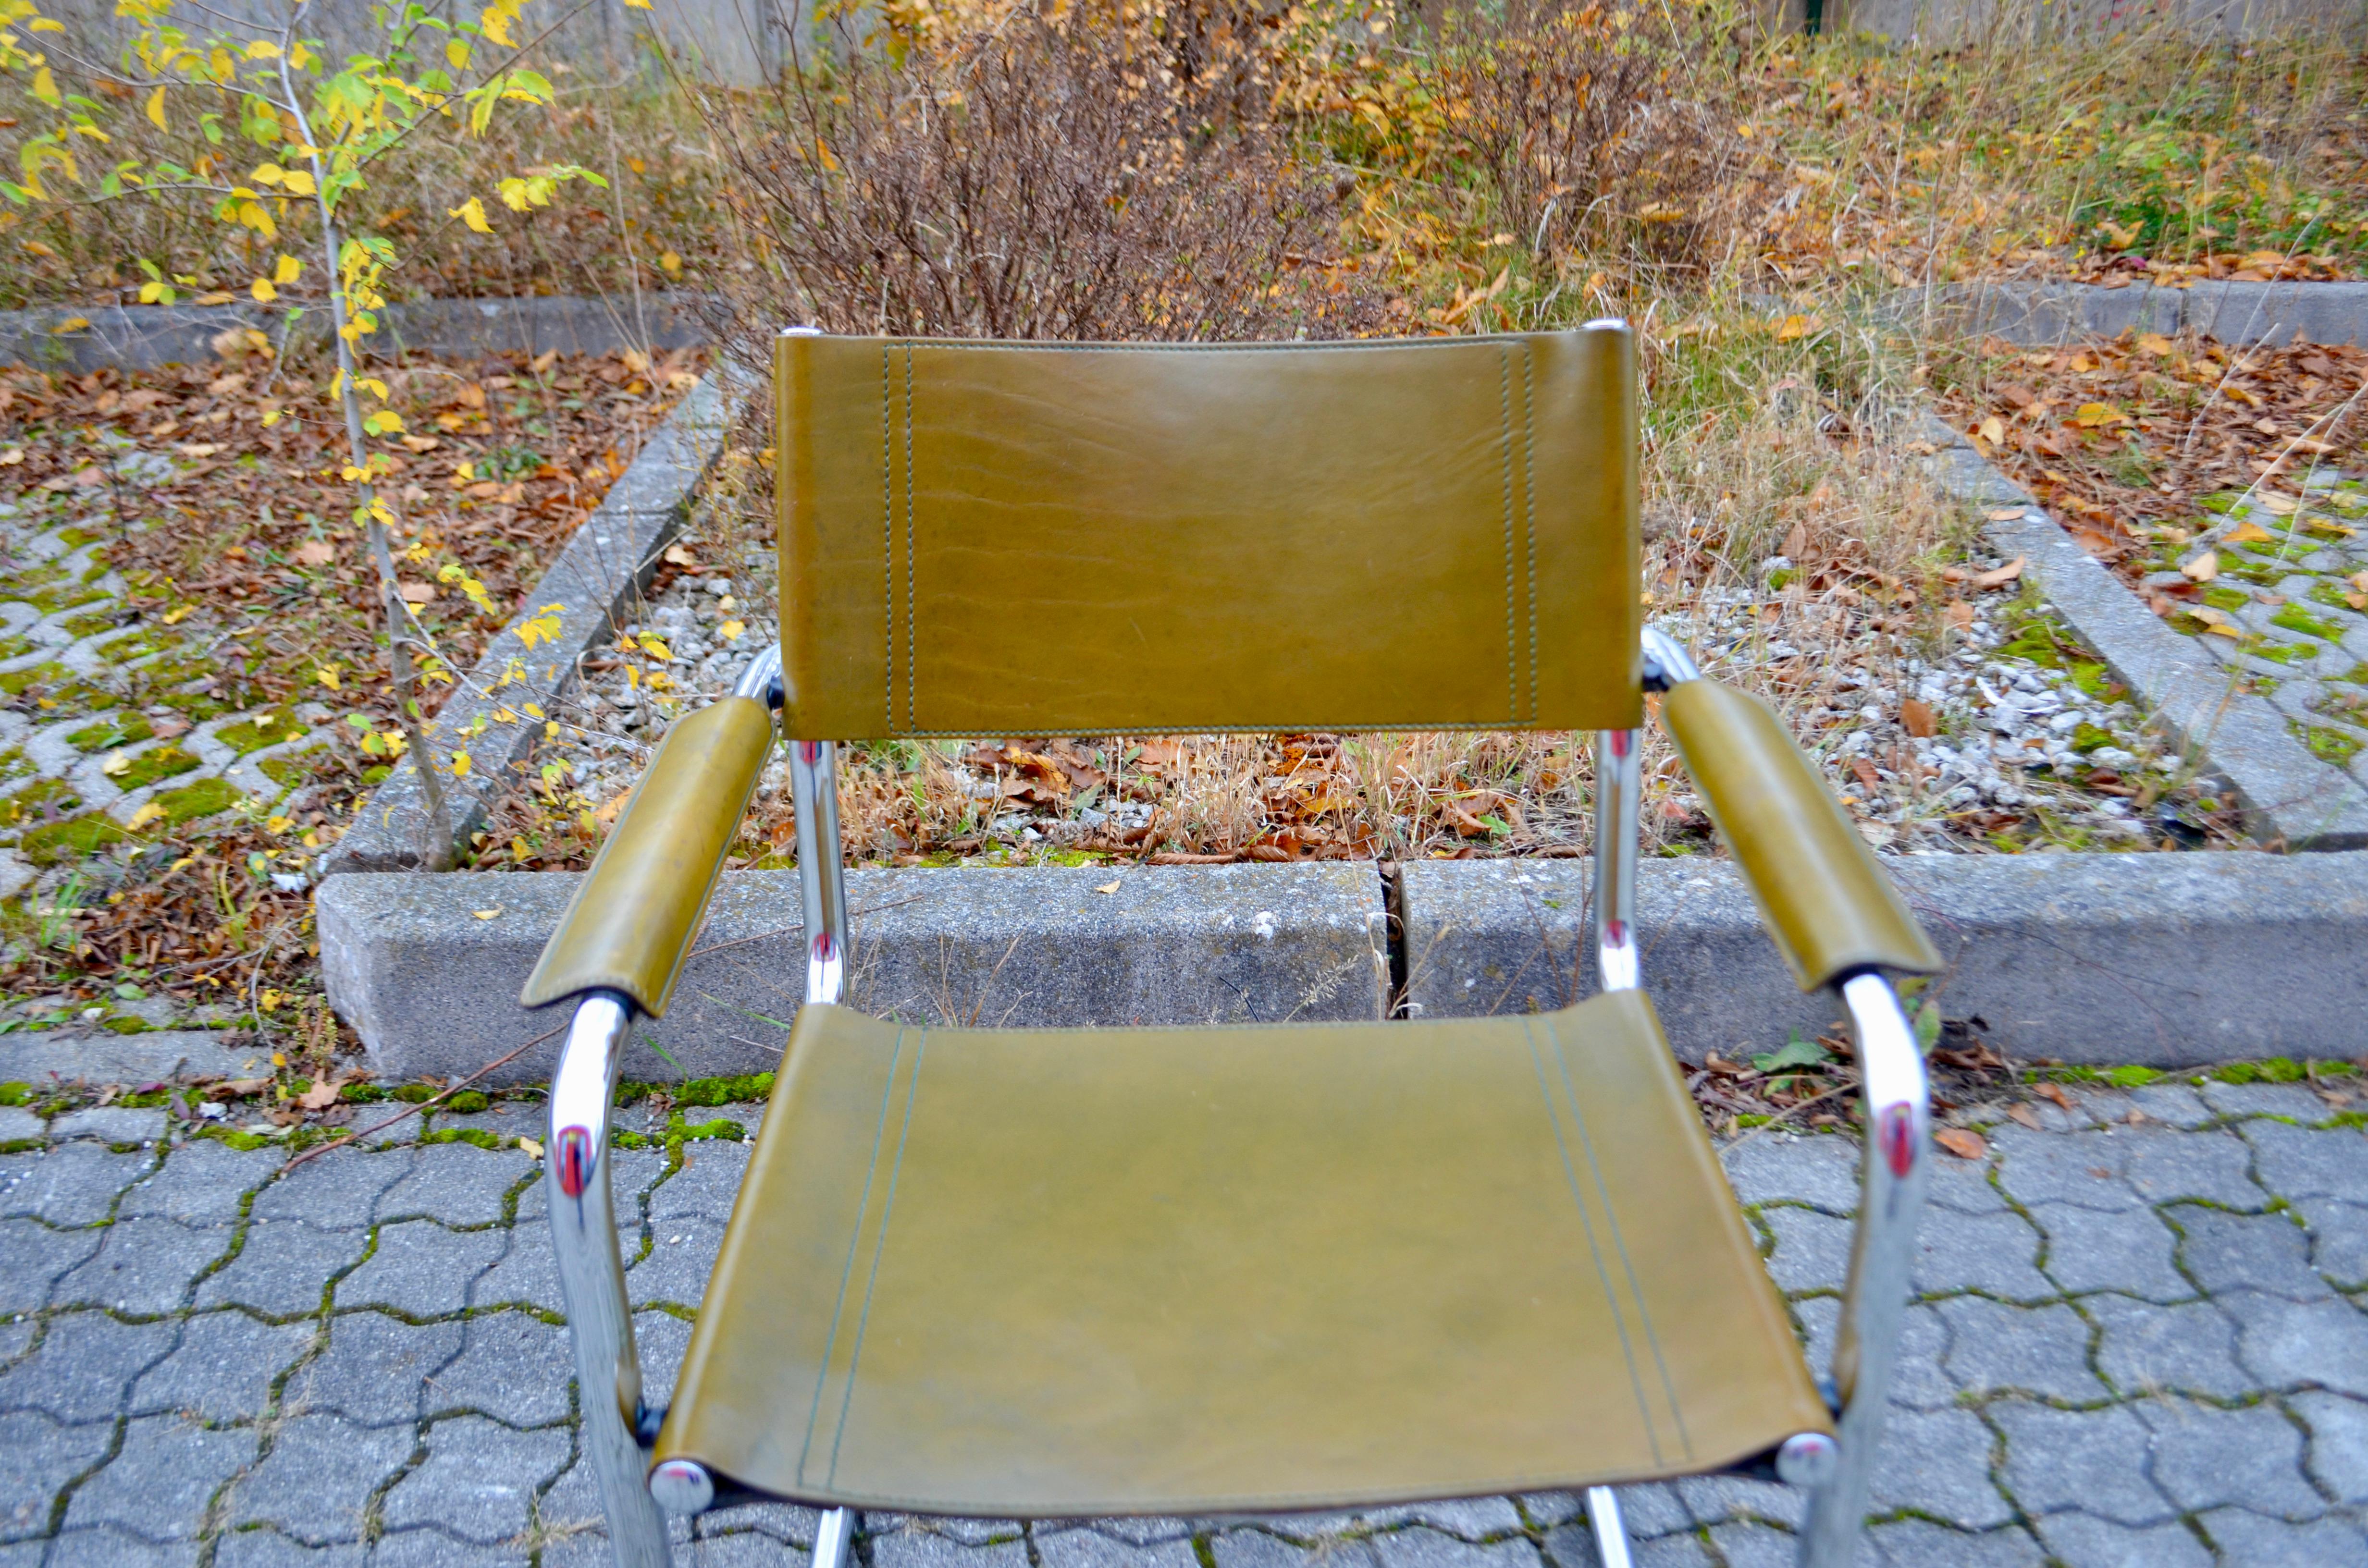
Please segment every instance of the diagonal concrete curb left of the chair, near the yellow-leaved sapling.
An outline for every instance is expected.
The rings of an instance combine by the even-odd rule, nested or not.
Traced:
[[[542,727],[521,708],[538,703],[549,711],[575,685],[575,661],[606,642],[625,618],[625,606],[649,587],[658,552],[689,514],[691,490],[722,455],[727,424],[725,393],[710,374],[642,445],[625,476],[575,528],[575,538],[519,613],[495,632],[485,656],[436,713],[429,746],[450,791],[455,846],[469,843],[469,834],[507,789],[509,765],[533,751]],[[559,632],[528,649],[519,628],[549,604],[559,606]],[[455,748],[469,751],[469,779],[452,779]],[[422,865],[426,836],[419,767],[414,758],[405,758],[362,803],[346,836],[322,855],[322,876]]]

